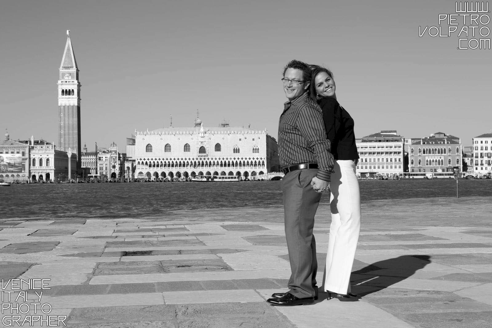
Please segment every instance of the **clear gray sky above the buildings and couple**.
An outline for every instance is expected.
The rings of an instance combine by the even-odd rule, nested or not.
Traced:
[[[490,40],[478,28],[487,35],[491,14],[478,13],[478,24],[454,16],[456,32],[431,37],[437,29],[426,27],[448,33],[440,14],[457,15],[456,1],[2,1],[0,131],[57,145],[70,30],[89,151],[115,142],[124,152],[135,130],[168,127],[171,117],[174,127],[193,126],[197,110],[204,127],[226,120],[277,138],[280,79],[292,59],[333,71],[357,138],[444,132],[471,146],[492,133],[492,50],[457,48]],[[477,25],[475,36],[472,28],[458,35]]]

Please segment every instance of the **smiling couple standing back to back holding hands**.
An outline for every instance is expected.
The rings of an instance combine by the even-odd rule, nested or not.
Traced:
[[[289,291],[267,301],[277,306],[310,304],[318,298],[314,215],[330,191],[332,222],[322,288],[329,298],[357,301],[350,273],[359,239],[361,209],[355,166],[354,121],[338,104],[333,74],[291,60],[283,72],[288,99],[278,123],[278,153],[285,176],[281,189],[291,276]]]

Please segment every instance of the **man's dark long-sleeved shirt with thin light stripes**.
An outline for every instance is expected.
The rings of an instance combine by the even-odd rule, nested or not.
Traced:
[[[319,179],[330,181],[335,161],[326,138],[323,112],[307,92],[284,103],[278,121],[278,155],[286,168],[302,163],[317,163]]]

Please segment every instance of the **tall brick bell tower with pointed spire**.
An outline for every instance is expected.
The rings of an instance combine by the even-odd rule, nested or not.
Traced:
[[[69,148],[77,156],[77,171],[81,167],[79,69],[73,53],[70,31],[66,31],[65,51],[58,81],[58,146]]]

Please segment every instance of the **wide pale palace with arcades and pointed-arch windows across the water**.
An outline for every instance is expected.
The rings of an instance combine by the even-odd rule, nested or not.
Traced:
[[[131,146],[131,145],[127,145]],[[278,170],[277,141],[267,130],[250,127],[194,126],[135,131],[136,179],[186,179],[194,176],[239,176],[249,179]],[[131,149],[131,147],[130,147]],[[134,157],[133,157],[134,156]],[[131,170],[125,163],[125,171]]]

